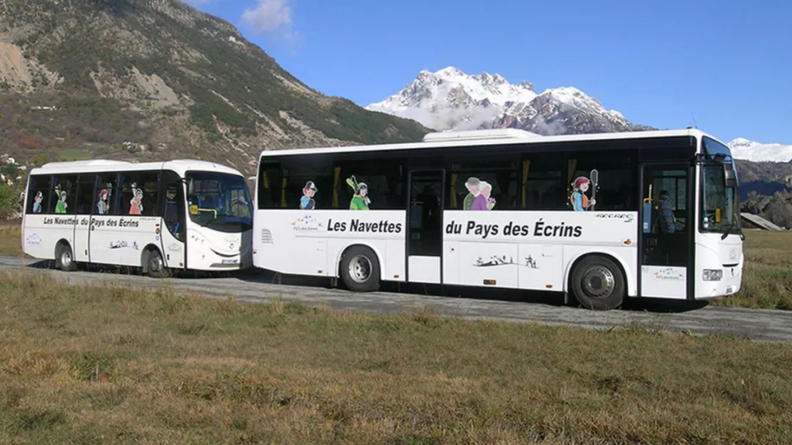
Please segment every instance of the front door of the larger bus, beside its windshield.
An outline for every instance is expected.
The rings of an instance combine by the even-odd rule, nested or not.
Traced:
[[[686,299],[691,283],[691,166],[642,165],[639,295]]]

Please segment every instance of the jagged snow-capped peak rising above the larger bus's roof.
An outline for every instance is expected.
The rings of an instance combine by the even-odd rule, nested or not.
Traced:
[[[560,135],[651,129],[571,86],[536,93],[530,82],[516,85],[500,74],[469,75],[455,67],[421,70],[404,89],[366,108],[436,130],[512,127]]]

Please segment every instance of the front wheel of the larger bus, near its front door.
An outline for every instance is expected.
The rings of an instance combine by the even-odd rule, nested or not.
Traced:
[[[572,272],[572,293],[592,310],[611,310],[624,301],[624,276],[614,261],[606,257],[585,257]]]

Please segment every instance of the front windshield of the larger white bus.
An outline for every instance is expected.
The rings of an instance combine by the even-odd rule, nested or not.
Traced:
[[[723,172],[724,162],[728,168],[734,169],[731,151],[729,147],[709,138],[704,139],[704,150],[708,160],[701,169],[701,230],[740,234],[739,192],[736,187],[725,186]],[[722,160],[715,160],[718,154],[722,155]],[[736,170],[734,174],[736,177]]]

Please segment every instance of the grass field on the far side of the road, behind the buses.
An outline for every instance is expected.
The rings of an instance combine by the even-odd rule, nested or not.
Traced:
[[[0,226],[0,254],[22,255],[18,225]],[[748,231],[741,291],[718,306],[792,310],[792,232]]]

